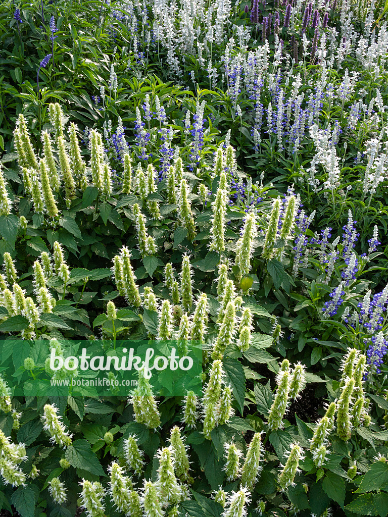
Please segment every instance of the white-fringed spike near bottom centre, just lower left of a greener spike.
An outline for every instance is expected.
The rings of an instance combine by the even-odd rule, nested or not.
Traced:
[[[162,506],[176,504],[181,499],[181,488],[174,474],[172,446],[159,449],[156,457],[159,460],[159,468],[155,488],[160,493]]]

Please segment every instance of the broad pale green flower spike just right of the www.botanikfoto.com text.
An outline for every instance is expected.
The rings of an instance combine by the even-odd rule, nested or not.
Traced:
[[[148,379],[144,377],[143,369],[139,370],[138,387],[133,391],[130,399],[133,413],[138,423],[143,423],[148,429],[157,429],[160,425],[160,413],[155,401],[154,393]]]

